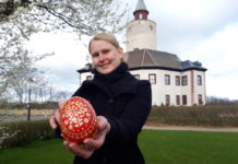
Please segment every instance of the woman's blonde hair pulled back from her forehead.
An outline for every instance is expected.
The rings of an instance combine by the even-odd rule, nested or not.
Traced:
[[[111,45],[114,45],[117,49],[120,48],[120,45],[117,40],[117,38],[115,37],[115,35],[112,34],[109,34],[109,33],[99,33],[97,35],[95,35],[91,40],[90,40],[90,44],[88,44],[88,51],[91,54],[91,44],[94,42],[94,40],[105,40]],[[122,61],[124,61],[124,56],[122,57]]]

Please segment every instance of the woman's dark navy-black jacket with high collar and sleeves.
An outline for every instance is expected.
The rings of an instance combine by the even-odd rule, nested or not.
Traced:
[[[109,75],[95,74],[84,81],[73,96],[90,101],[98,116],[110,124],[104,145],[84,160],[75,156],[74,164],[144,164],[138,147],[138,134],[151,110],[151,84],[128,72],[126,63]]]

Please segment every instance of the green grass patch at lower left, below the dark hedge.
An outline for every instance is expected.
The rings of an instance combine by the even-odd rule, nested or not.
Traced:
[[[36,140],[25,147],[0,150],[0,164],[71,164],[73,155],[62,140]]]

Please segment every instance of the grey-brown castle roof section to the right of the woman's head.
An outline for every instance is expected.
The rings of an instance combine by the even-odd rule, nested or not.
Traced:
[[[131,70],[157,68],[175,71],[190,69],[206,71],[199,61],[181,61],[177,55],[152,49],[140,49],[127,52],[127,62]]]

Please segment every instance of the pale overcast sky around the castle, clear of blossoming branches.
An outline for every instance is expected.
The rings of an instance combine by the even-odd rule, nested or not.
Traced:
[[[138,0],[130,0],[129,17]],[[157,50],[181,60],[200,61],[206,71],[207,96],[238,99],[238,1],[144,0],[148,19],[157,24]],[[119,36],[123,42],[124,36]],[[47,69],[57,89],[74,92],[78,69],[86,63],[87,47],[73,34],[41,34],[33,37],[36,52],[55,51],[38,63]]]

